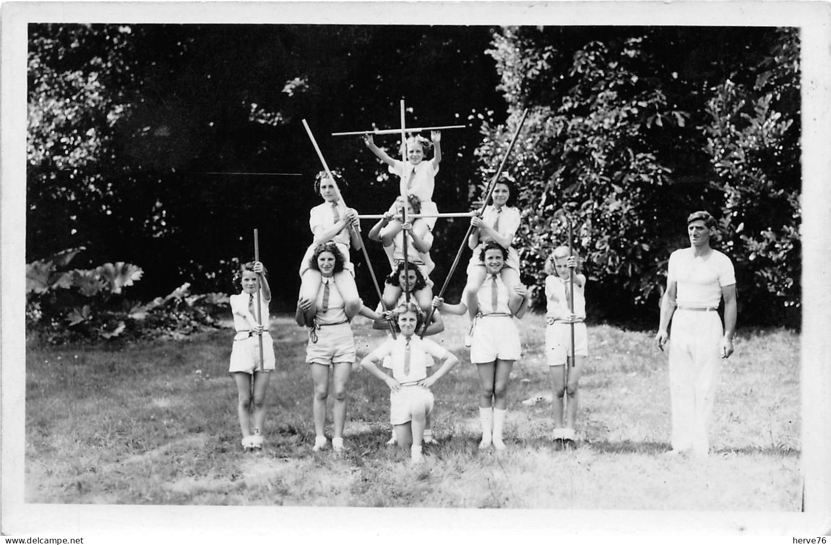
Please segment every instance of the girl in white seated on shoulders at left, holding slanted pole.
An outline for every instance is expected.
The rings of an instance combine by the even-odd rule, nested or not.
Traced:
[[[349,248],[354,245],[361,248],[361,236],[358,234],[360,221],[354,209],[346,209],[340,203],[341,194],[338,185],[346,185],[346,182],[337,171],[332,170],[330,179],[325,170],[317,174],[314,183],[315,193],[320,194],[322,204],[318,204],[309,210],[309,228],[312,229],[312,245],[306,251],[300,262],[300,297],[305,301],[304,307],[308,310],[304,313],[306,323],[311,324],[315,316],[315,298],[321,287],[321,274],[310,267],[312,253],[318,244],[332,241],[335,243],[337,252],[341,255],[343,263],[342,270],[335,274],[334,282],[341,293],[344,301],[344,312],[347,317],[355,316],[361,309],[361,297],[355,285],[355,270],[349,259]],[[354,226],[354,229],[349,226]]]

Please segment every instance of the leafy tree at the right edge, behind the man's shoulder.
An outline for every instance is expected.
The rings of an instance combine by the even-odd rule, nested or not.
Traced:
[[[724,194],[722,232],[734,250],[747,305],[774,320],[799,317],[801,218],[799,35],[777,34],[755,81],[726,80],[703,127],[713,185]]]

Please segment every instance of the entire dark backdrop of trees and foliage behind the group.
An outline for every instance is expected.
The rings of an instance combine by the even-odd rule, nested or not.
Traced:
[[[320,200],[301,120],[346,177],[347,204],[381,213],[396,180],[359,138],[331,133],[395,128],[403,98],[410,126],[468,125],[442,136],[443,211],[470,209],[529,109],[507,168],[523,188],[526,282],[564,242],[565,206],[596,316],[652,319],[684,217],[706,208],[724,219],[742,322],[799,321],[794,30],[39,24],[29,36],[27,261],[84,246],[78,267],[143,268],[139,297],[182,282],[229,292],[258,228],[274,309],[288,310]],[[396,136],[376,143],[397,155]],[[467,224],[437,223],[438,284]]]

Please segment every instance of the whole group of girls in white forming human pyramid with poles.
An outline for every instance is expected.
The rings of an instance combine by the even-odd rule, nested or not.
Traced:
[[[517,198],[514,185],[499,176],[500,166],[489,184],[483,209],[439,214],[432,196],[442,159],[440,130],[431,130],[430,140],[420,135],[405,139],[402,135],[406,142],[406,160],[393,159],[376,146],[371,134],[364,134],[366,147],[388,165],[391,174],[401,179],[401,195],[390,209],[380,217],[368,216],[378,221],[367,237],[381,242],[391,265],[382,292],[369,266],[380,298],[379,307],[373,310],[361,300],[350,259],[351,248],[361,249],[369,263],[360,234],[360,219],[367,216],[346,207],[339,189],[345,181],[328,168],[305,120],[303,124],[324,167],[314,182],[315,192],[323,202],[309,212],[313,239],[300,264],[301,287],[295,317],[298,325],[307,327],[309,336],[306,361],[314,383],[312,411],[316,434],[312,450],[327,447],[324,427],[330,380],[334,398],[332,450],[344,449],[346,388],[356,362],[351,321],[361,315],[373,320],[377,329],[389,330],[386,341],[361,360],[363,368],[390,387],[393,436],[389,443],[410,449],[413,463],[423,459],[422,443],[435,443],[430,423],[435,400],[430,386],[446,376],[459,361],[435,341],[424,338],[444,330],[441,312],[470,317],[465,346],[470,346],[470,361],[476,365],[479,377],[482,426],[479,449],[504,450],[509,376],[521,352],[514,318],[521,319],[529,306],[527,287],[519,280],[519,254],[513,247],[520,221],[519,209],[514,207]],[[382,134],[382,131],[376,133]],[[515,140],[516,135],[510,147]],[[430,149],[433,156],[427,160]],[[448,216],[470,217],[466,242],[473,250],[466,270],[465,292],[455,304],[441,297],[447,282],[435,295],[434,283],[430,280],[435,266],[430,258],[432,230],[437,218]],[[552,439],[558,448],[574,445],[578,380],[588,354],[583,323],[585,277],[574,273],[577,265],[569,246],[554,248],[546,261],[546,349],[553,374]],[[450,275],[452,269],[448,279]],[[238,386],[243,449],[262,449],[265,392],[269,371],[275,365],[273,341],[268,335],[271,292],[266,270],[257,257],[241,266],[238,279],[242,292],[230,297],[237,332],[229,372]],[[259,299],[255,304],[257,294]],[[266,309],[264,315],[257,307]],[[430,373],[434,358],[442,363]]]

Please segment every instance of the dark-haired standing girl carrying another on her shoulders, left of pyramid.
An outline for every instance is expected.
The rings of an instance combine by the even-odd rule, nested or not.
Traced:
[[[326,425],[326,401],[329,396],[329,370],[332,369],[332,395],[335,398],[332,416],[334,430],[332,449],[343,450],[343,427],[347,420],[347,381],[355,363],[355,337],[352,336],[351,317],[346,312],[346,302],[340,286],[335,282],[344,268],[342,253],[337,243],[318,245],[312,252],[308,267],[320,274],[321,285],[313,300],[297,302],[295,321],[304,326],[309,323],[312,306],[314,315],[309,327],[309,341],[306,346],[306,362],[312,371],[314,391],[312,413],[314,415],[315,442],[313,451],[326,447],[324,434]],[[373,312],[358,300],[358,313],[371,320],[385,319],[384,315]]]

